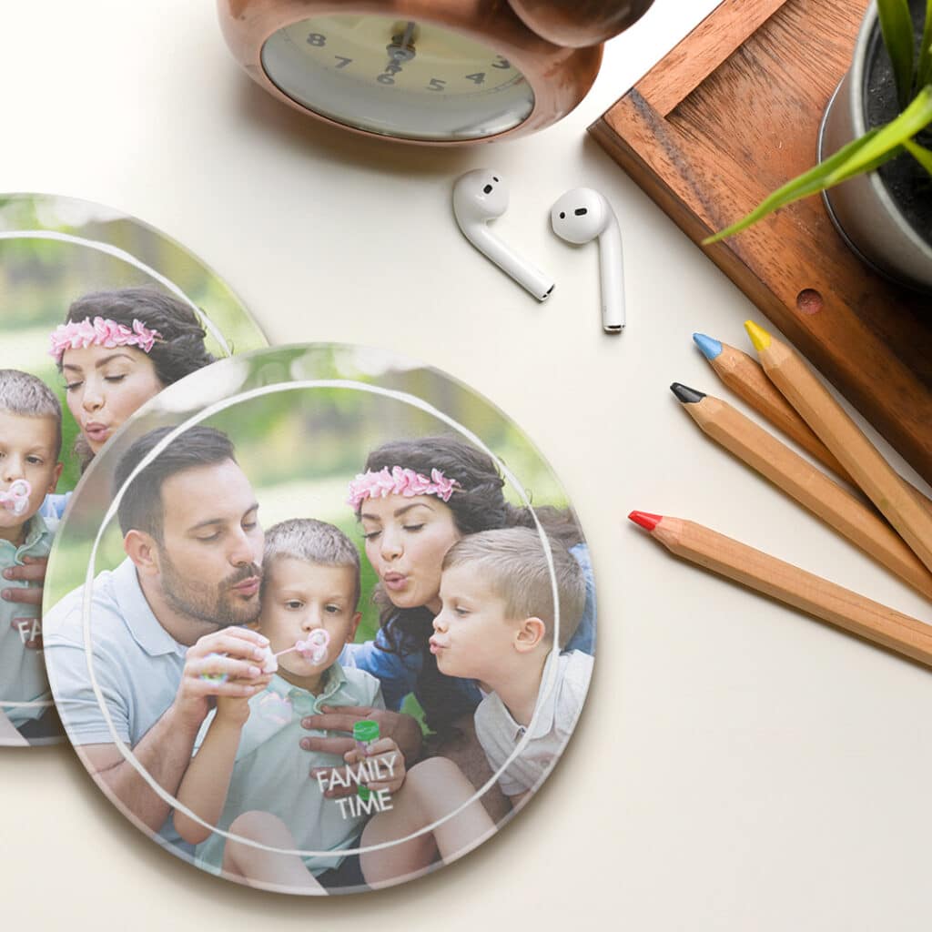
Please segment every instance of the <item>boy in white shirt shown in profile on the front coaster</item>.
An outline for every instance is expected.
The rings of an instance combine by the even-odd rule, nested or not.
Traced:
[[[477,679],[488,692],[475,730],[513,805],[540,785],[569,740],[592,674],[588,654],[559,653],[583,615],[583,571],[562,544],[550,541],[550,554],[553,573],[531,528],[463,538],[445,556],[443,608],[433,620],[440,672]]]

